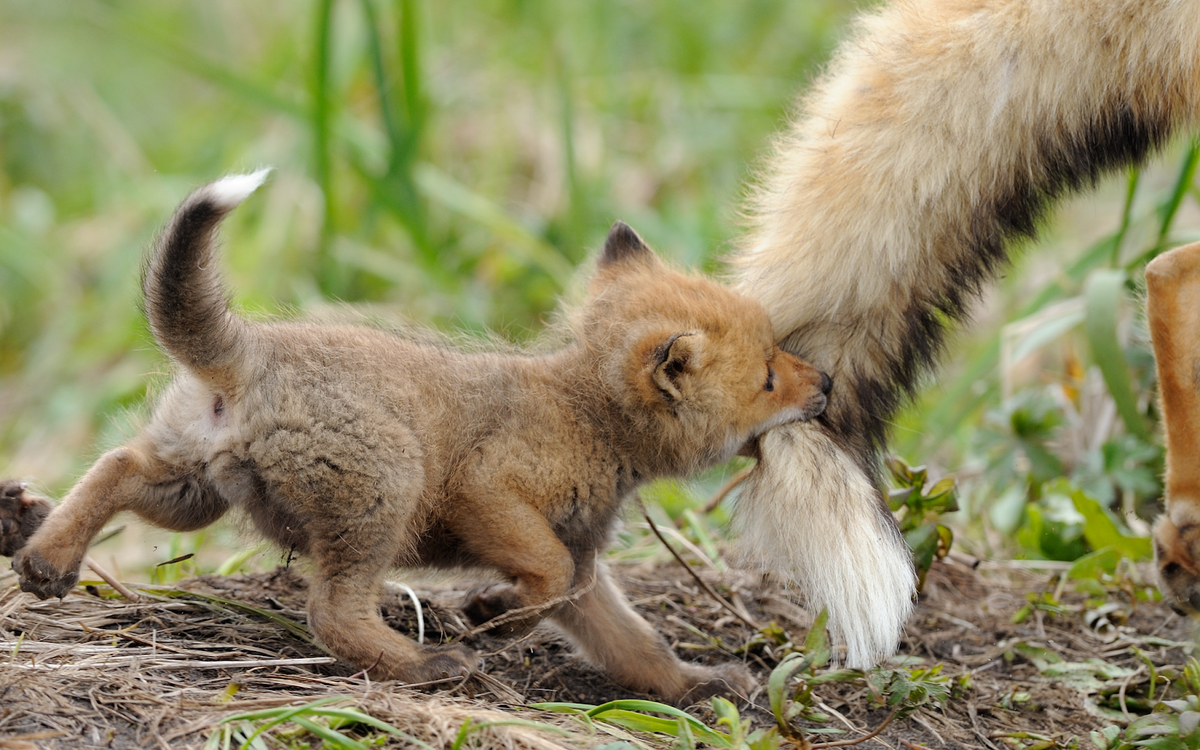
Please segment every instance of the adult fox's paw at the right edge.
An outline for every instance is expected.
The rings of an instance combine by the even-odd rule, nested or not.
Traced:
[[[1154,522],[1154,566],[1158,588],[1180,614],[1200,614],[1200,511],[1195,503],[1174,498]]]

